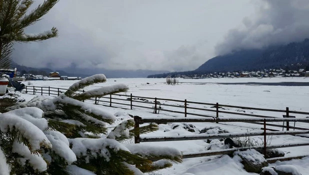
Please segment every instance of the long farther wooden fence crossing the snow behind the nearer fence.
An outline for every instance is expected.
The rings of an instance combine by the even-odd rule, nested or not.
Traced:
[[[57,87],[43,87],[43,86],[25,86],[25,89],[22,92],[25,93],[33,93],[33,94],[48,94],[49,96],[58,96],[67,89],[65,88],[57,88]],[[78,92],[83,92],[84,90],[79,90]],[[103,96],[101,98],[95,97],[90,99],[90,101],[94,101],[94,104],[100,104],[104,106],[111,107],[121,107],[125,109],[150,109],[153,113],[159,113],[160,111],[167,113],[174,113],[177,116],[201,116],[201,117],[219,117],[220,114],[224,114],[224,116],[251,116],[251,117],[260,117],[260,118],[277,118],[282,117],[284,115],[286,118],[294,117],[290,114],[298,114],[298,115],[309,115],[309,112],[304,111],[293,111],[289,110],[288,107],[285,110],[282,109],[270,109],[270,108],[258,108],[258,107],[246,107],[246,106],[235,106],[235,105],[226,105],[219,103],[205,103],[205,102],[197,102],[197,101],[187,101],[178,100],[178,99],[167,99],[167,98],[156,98],[156,97],[145,97],[145,96],[134,96],[132,93],[127,94],[109,94]],[[236,109],[236,111],[228,111],[230,108]],[[245,110],[249,110],[246,112]],[[265,114],[254,114],[254,112],[267,111],[268,115]],[[271,116],[269,115],[271,114]],[[297,116],[298,117],[298,116]],[[309,116],[308,116],[309,117]],[[219,122],[217,120],[216,122]],[[221,122],[224,122],[221,120]],[[253,124],[262,125],[261,120],[243,120],[240,122],[249,122]],[[309,121],[298,121],[298,122],[309,122]],[[297,123],[298,123],[297,122]],[[295,124],[295,123],[294,123]],[[306,130],[307,124],[301,125],[302,127],[295,127],[289,125],[289,121],[286,122],[285,125],[281,125],[278,123],[266,123],[268,126],[280,127],[289,129],[300,129]],[[270,129],[270,128],[268,128]]]

